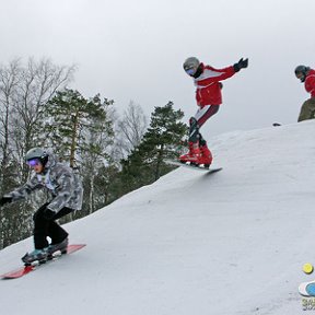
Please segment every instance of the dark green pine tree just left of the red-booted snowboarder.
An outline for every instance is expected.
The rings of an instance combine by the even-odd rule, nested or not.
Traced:
[[[159,179],[171,170],[163,163],[163,159],[179,154],[187,125],[179,121],[184,113],[174,110],[173,105],[173,102],[168,102],[163,107],[155,107],[143,140],[133,149],[128,159],[121,161],[121,176],[126,190],[136,189]]]

